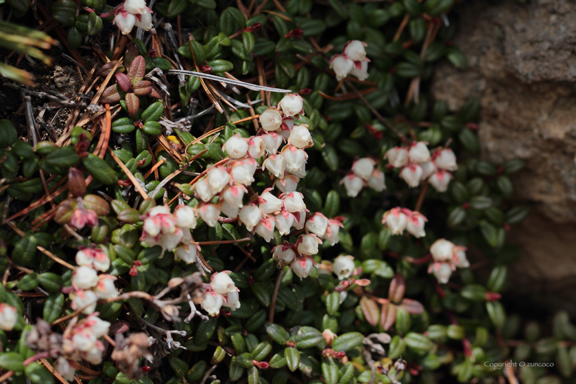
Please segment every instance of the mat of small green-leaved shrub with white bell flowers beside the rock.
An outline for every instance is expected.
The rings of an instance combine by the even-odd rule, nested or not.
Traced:
[[[425,94],[466,66],[453,1],[6,3],[82,86],[4,80],[0,382],[572,376],[567,316],[518,341],[501,303],[522,163],[479,160],[477,100]]]

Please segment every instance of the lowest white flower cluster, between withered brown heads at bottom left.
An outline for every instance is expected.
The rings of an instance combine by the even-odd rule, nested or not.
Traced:
[[[67,329],[62,339],[63,356],[56,361],[56,370],[67,381],[74,380],[76,368],[80,368],[76,361],[82,359],[98,365],[102,362],[104,344],[99,339],[108,334],[110,323],[101,320],[96,313],[80,320],[71,331]]]

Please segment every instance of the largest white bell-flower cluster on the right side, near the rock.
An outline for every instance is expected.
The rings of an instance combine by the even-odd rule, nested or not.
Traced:
[[[438,192],[445,192],[453,178],[450,171],[458,169],[452,149],[438,147],[433,155],[424,141],[414,141],[409,147],[394,147],[386,152],[390,167],[402,168],[400,178],[410,187],[428,180]]]

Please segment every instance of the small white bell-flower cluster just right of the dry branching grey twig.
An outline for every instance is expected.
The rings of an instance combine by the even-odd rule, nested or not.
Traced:
[[[240,308],[240,289],[228,274],[230,271],[215,272],[210,278],[210,284],[204,284],[204,299],[201,305],[208,315],[218,316],[223,306],[230,311]]]

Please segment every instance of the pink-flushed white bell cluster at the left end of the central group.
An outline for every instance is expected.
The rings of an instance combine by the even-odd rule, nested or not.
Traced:
[[[142,217],[144,225],[141,241],[149,247],[160,245],[163,252],[176,248],[176,257],[194,263],[197,247],[192,244],[190,230],[196,228],[196,215],[194,208],[184,204],[178,204],[174,213],[170,212],[168,206],[155,206]]]

